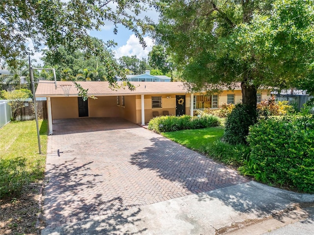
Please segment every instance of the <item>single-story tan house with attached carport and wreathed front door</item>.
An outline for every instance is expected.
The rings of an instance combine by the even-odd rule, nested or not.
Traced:
[[[57,81],[54,83],[39,83],[36,97],[47,97],[48,123],[52,133],[52,123],[55,119],[64,118],[96,118],[119,117],[131,122],[145,125],[156,115],[194,115],[195,109],[218,109],[222,103],[238,103],[241,101],[241,91],[223,91],[217,95],[191,94],[181,82],[132,82],[136,89],[128,88],[111,90],[108,82],[78,82],[82,88],[88,89],[89,98],[83,101],[78,97],[78,91],[72,82]],[[66,97],[62,87],[71,86]],[[261,93],[261,99],[268,98],[267,92]]]

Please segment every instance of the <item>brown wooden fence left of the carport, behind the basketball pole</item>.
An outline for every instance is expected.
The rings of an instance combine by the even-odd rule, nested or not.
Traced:
[[[26,121],[35,119],[34,104],[32,101],[21,101],[24,103],[24,107],[18,111],[16,120]],[[47,101],[37,100],[37,114],[40,119],[47,119]]]

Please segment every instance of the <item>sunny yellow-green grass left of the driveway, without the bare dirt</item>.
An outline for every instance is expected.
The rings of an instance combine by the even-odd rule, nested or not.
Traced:
[[[39,120],[42,154],[36,122],[14,121],[0,129],[0,194],[18,196],[23,186],[42,180],[47,153],[47,120]]]

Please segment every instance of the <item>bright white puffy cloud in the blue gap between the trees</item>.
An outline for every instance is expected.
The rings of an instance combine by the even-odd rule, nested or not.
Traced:
[[[145,47],[145,49],[139,43],[138,38],[136,38],[136,36],[132,34],[128,39],[126,45],[118,47],[115,50],[115,57],[118,59],[122,56],[136,55],[139,59],[147,59],[148,53],[152,50],[152,47],[154,46],[154,42],[153,39],[151,39],[150,37],[144,37],[144,40],[147,46]]]

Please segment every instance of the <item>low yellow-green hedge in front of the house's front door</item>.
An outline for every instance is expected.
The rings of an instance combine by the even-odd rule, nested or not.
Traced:
[[[213,127],[218,126],[219,124],[219,119],[212,115],[203,115],[201,117],[191,117],[188,115],[183,115],[181,117],[159,116],[149,121],[148,129],[161,133]]]

